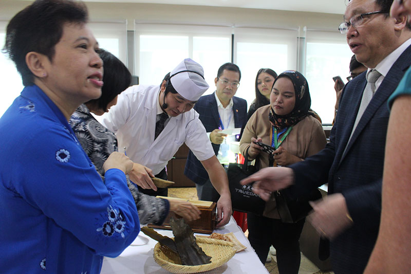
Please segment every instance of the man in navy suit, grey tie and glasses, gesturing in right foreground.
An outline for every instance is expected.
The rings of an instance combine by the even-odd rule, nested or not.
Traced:
[[[253,187],[264,199],[287,187],[284,193],[296,198],[328,182],[329,195],[312,203],[309,220],[330,240],[337,274],[362,273],[378,235],[387,99],[411,64],[411,28],[406,16],[389,17],[392,3],[351,0],[347,5],[340,31],[368,70],[344,87],[326,148],[290,168],[261,170],[243,182],[257,180]]]

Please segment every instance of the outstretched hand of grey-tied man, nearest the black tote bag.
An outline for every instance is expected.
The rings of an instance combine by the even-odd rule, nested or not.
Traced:
[[[264,168],[240,181],[241,185],[254,182],[253,192],[268,201],[271,192],[285,189],[294,183],[294,172],[290,168]]]

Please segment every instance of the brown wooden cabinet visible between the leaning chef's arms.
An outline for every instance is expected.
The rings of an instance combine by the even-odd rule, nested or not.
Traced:
[[[189,154],[189,148],[183,143],[178,149],[174,158],[167,163],[167,176],[170,181],[174,181],[174,188],[195,187],[192,180],[184,175],[185,161]]]

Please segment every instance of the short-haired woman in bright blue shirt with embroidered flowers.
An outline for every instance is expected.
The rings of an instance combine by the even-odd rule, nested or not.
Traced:
[[[82,2],[36,0],[7,26],[25,87],[0,118],[2,273],[100,273],[140,231],[133,162],[114,152],[103,182],[68,123],[103,85],[87,20]]]

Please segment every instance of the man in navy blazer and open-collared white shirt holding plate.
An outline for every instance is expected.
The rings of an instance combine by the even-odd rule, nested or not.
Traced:
[[[236,136],[227,136],[221,131],[241,128],[247,118],[247,101],[234,96],[240,79],[241,71],[237,65],[223,64],[214,80],[215,93],[200,97],[194,106],[200,115],[199,119],[206,127],[217,159],[225,167],[230,162],[235,162],[235,154],[230,151],[230,142],[235,141]],[[184,174],[195,182],[200,200],[218,200],[218,192],[213,188],[206,170],[191,151]]]

